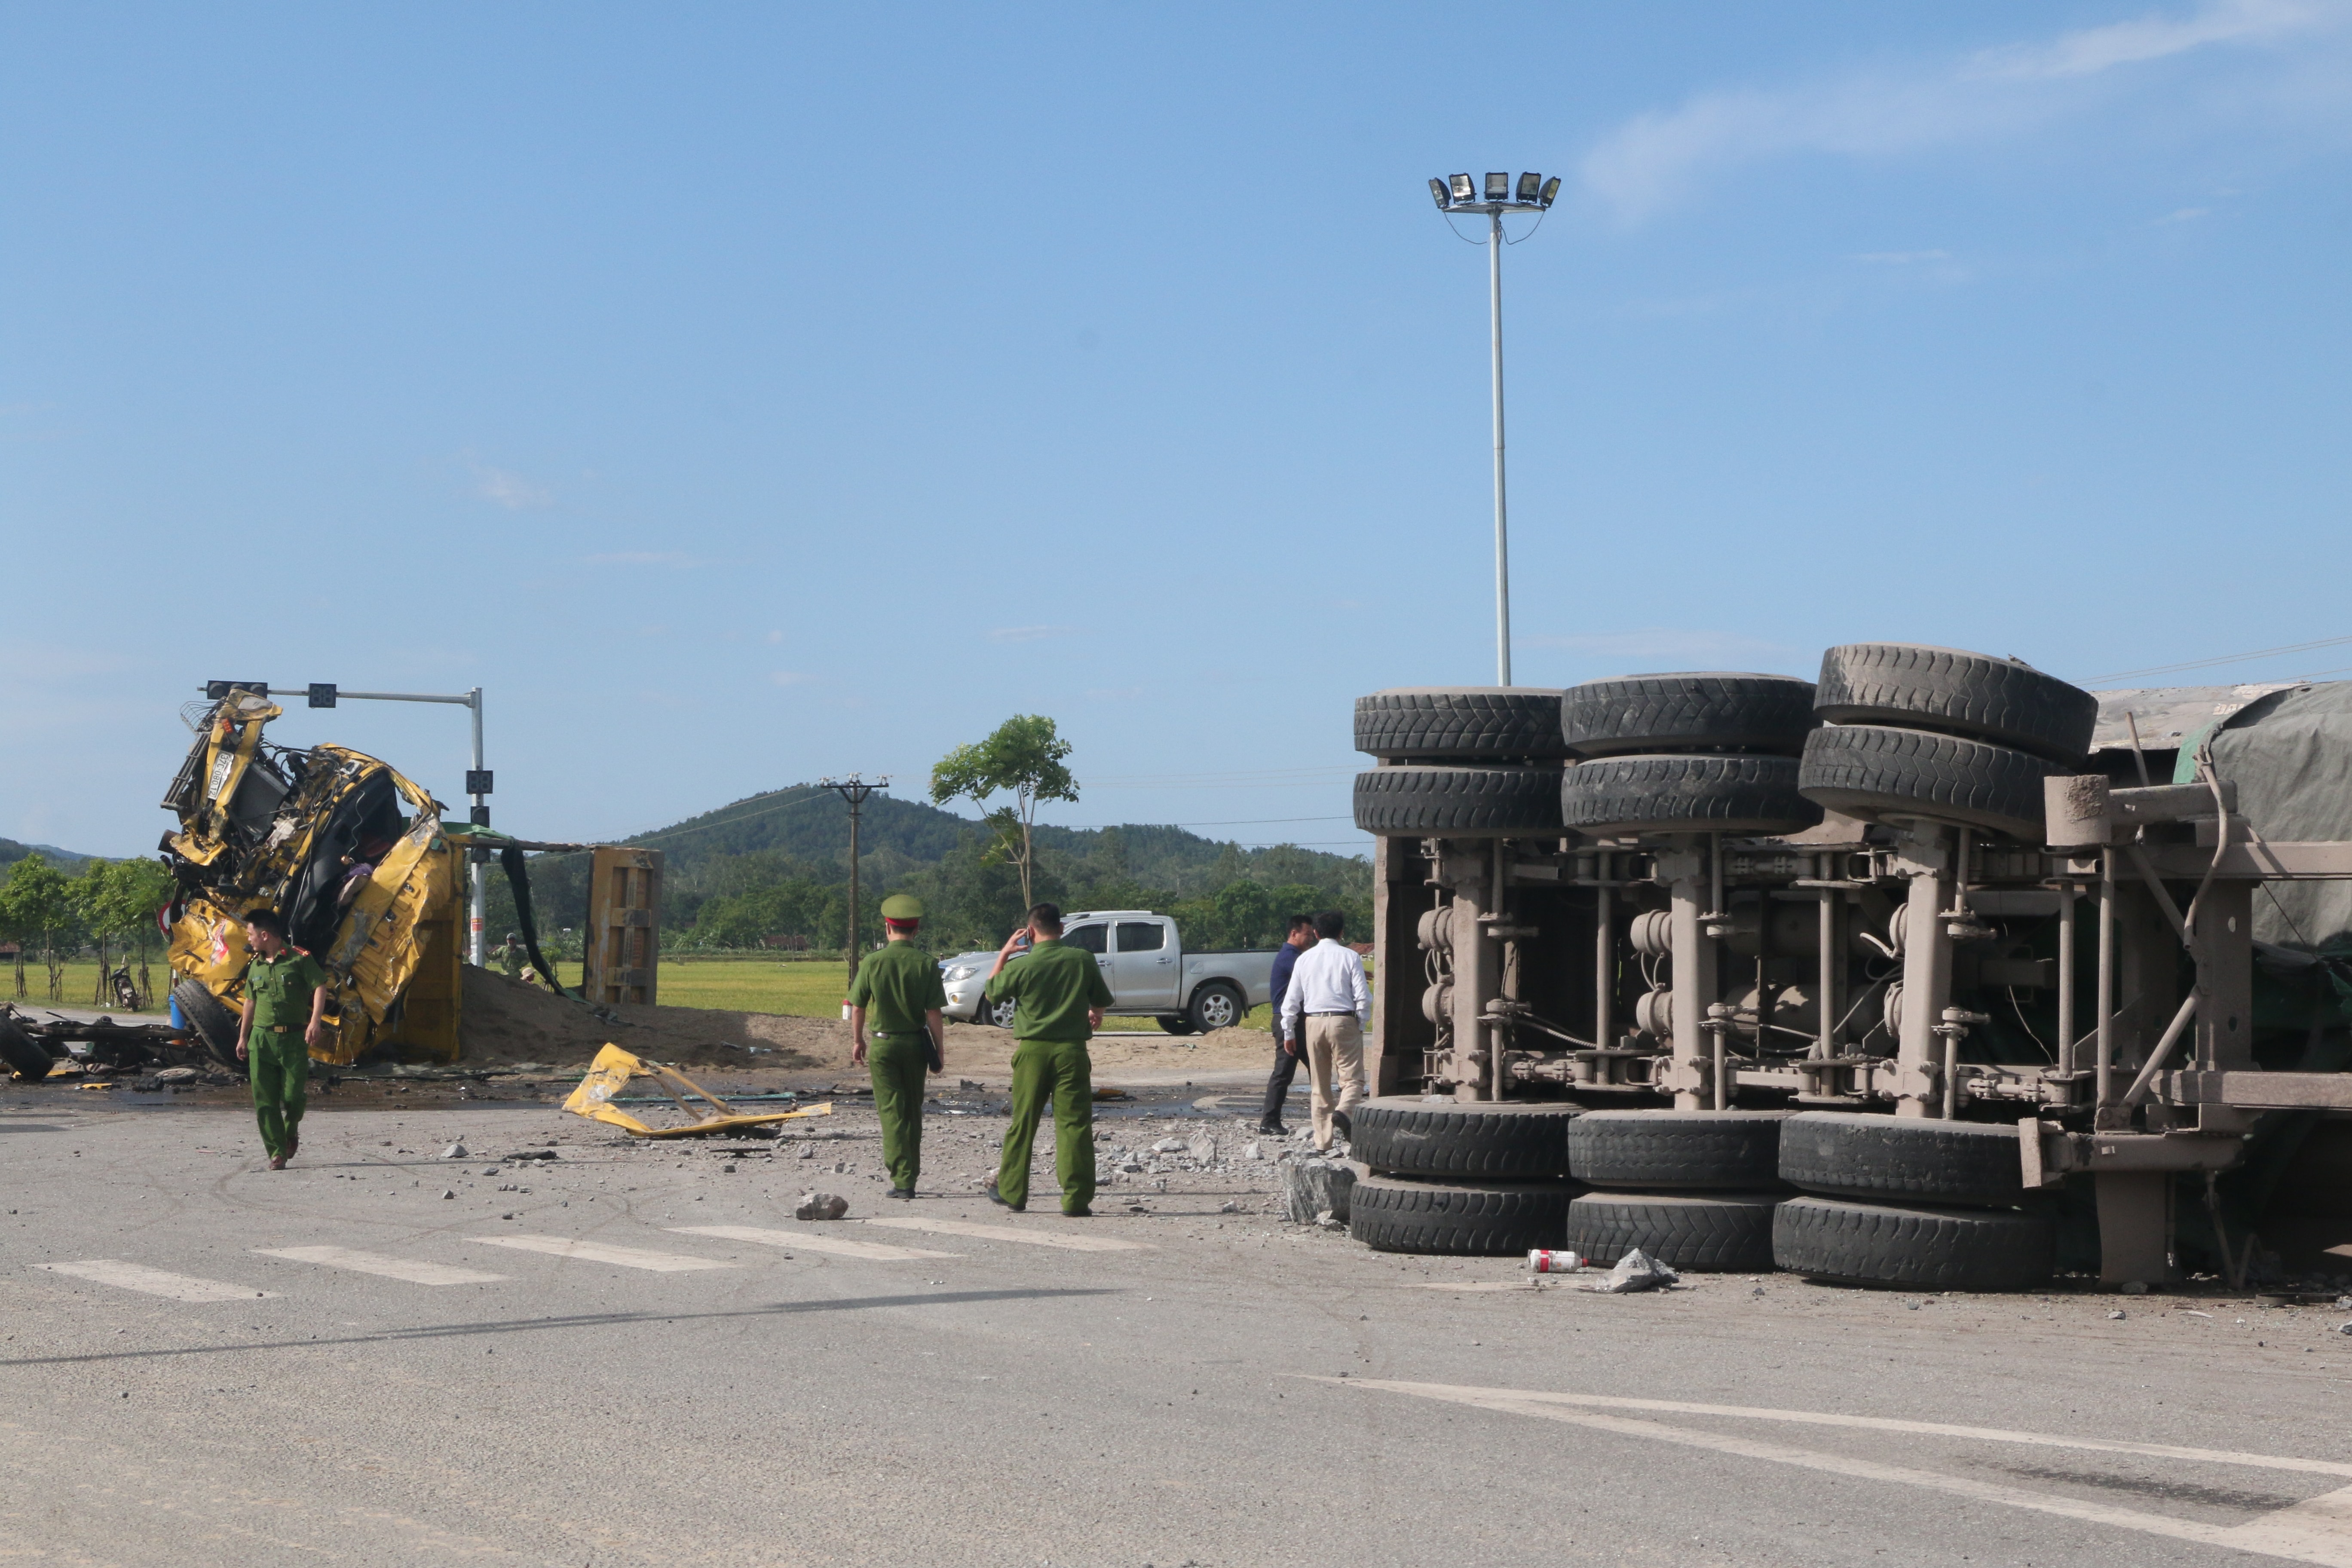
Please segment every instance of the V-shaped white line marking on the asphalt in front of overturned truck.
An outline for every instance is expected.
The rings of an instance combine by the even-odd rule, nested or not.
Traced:
[[[2312,1497],[2296,1507],[2279,1509],[2279,1514],[2258,1519],[2253,1523],[2216,1526],[2194,1519],[2171,1519],[2166,1514],[2140,1514],[2138,1509],[2119,1509],[2107,1502],[2086,1502],[2079,1497],[2063,1497],[2056,1493],[2032,1493],[2018,1486],[1978,1481],[1973,1476],[1947,1476],[1933,1469],[1884,1465],[1879,1460],[1863,1460],[1844,1453],[1820,1453],[1816,1448],[1788,1448],[1783,1443],[1759,1443],[1755,1439],[1729,1436],[1719,1432],[1693,1432],[1689,1427],[1665,1427],[1651,1420],[1625,1420],[1623,1415],[1597,1415],[1592,1410],[1569,1408],[1566,1403],[1548,1399],[1543,1394],[1517,1392],[1517,1389],[1470,1389],[1446,1382],[1388,1382],[1378,1378],[1315,1378],[1312,1382],[1331,1382],[1338,1387],[1355,1385],[1392,1394],[1418,1394],[1423,1399],[1442,1399],[1446,1403],[1482,1406],[1510,1415],[1534,1415],[1541,1420],[1569,1422],[1573,1427],[1590,1427],[1595,1432],[1609,1432],[1616,1436],[1639,1436],[1656,1443],[1708,1448],[1712,1453],[1731,1453],[1748,1460],[1771,1460],[1773,1465],[1797,1465],[1802,1469],[1818,1469],[1825,1474],[1851,1476],[1858,1481],[1893,1481],[1900,1486],[1919,1486],[1926,1490],[1952,1493],[1957,1497],[1973,1497],[1976,1502],[1999,1502],[2004,1507],[2032,1509],[2037,1514],[2058,1514],[2065,1519],[2079,1519],[2084,1523],[2105,1523],[2124,1530],[2143,1530],[2147,1535],[2194,1540],[2206,1547],[2230,1547],[2237,1552],[2281,1556],[2298,1563],[2326,1563],[2331,1568],[2352,1568],[2352,1507],[2347,1507],[2345,1493],[2326,1493],[2324,1497]],[[1611,1401],[1611,1403],[1635,1403],[1635,1401]],[[1653,1401],[1653,1403],[1665,1403],[1665,1401]],[[1693,1410],[1703,1413],[1705,1406],[1693,1406]],[[1804,1415],[1804,1413],[1776,1410],[1773,1415]],[[1865,1422],[1856,1420],[1853,1425],[1865,1425]],[[1940,1429],[1926,1422],[1917,1422],[1917,1427],[1924,1427],[1926,1432],[1962,1432],[1962,1434],[1976,1432],[1971,1427]],[[2025,1439],[2025,1434],[2013,1434],[2009,1441],[2018,1439]],[[2025,1439],[2025,1441],[2039,1441],[2039,1439]],[[2091,1443],[2067,1439],[2058,1446],[2086,1448]],[[2147,1450],[2147,1446],[2143,1443],[2112,1443],[2112,1446],[2100,1443],[2100,1446],[2117,1448],[2124,1453]],[[2176,1448],[2169,1453],[2192,1455],[2201,1450]],[[2281,1462],[2281,1467],[2300,1469],[2298,1462]]]

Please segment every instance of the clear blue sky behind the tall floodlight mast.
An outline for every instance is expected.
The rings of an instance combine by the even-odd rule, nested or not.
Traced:
[[[1494,670],[1456,169],[1566,181],[1522,684],[2352,637],[2347,155],[2321,0],[9,7],[0,835],[256,677],[485,686],[543,837],[1044,712],[1056,820],[1359,844],[1350,701]]]

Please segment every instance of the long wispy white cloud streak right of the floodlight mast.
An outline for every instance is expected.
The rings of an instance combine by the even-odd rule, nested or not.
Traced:
[[[1621,223],[1639,223],[1710,176],[1766,158],[1893,158],[2011,136],[2086,108],[2084,82],[2122,66],[2213,45],[2274,47],[2345,21],[2347,0],[2209,0],[2187,16],[2082,28],[1915,73],[1705,92],[1602,136],[1578,179]]]

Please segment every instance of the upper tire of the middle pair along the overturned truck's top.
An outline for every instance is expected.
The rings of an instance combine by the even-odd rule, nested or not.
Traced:
[[[1820,726],[1813,682],[1795,675],[1618,675],[1569,686],[1559,738],[1576,757],[1621,752],[1776,752]]]

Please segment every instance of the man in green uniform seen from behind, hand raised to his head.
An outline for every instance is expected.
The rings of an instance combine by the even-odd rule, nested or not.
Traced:
[[[1021,957],[1021,950],[1028,957]],[[1018,961],[1014,961],[1018,959]],[[1054,1103],[1054,1175],[1061,1211],[1073,1220],[1094,1213],[1094,1058],[1087,1041],[1110,1006],[1110,985],[1094,954],[1061,945],[1061,910],[1030,910],[1028,926],[1004,938],[988,971],[990,1001],[1014,1006],[1014,1121],[1004,1128],[1004,1161],[988,1197],[1028,1208],[1028,1157],[1037,1119]]]

